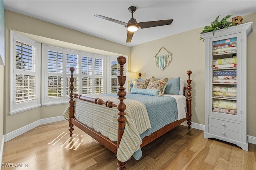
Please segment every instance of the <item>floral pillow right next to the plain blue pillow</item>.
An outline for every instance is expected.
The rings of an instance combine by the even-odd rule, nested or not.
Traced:
[[[159,89],[158,95],[164,94],[164,89],[167,85],[168,79],[156,79],[154,76],[150,79],[147,89]]]

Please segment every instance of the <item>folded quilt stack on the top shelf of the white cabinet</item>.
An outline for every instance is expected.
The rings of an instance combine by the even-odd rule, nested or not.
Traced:
[[[213,42],[212,54],[236,52],[236,38]]]

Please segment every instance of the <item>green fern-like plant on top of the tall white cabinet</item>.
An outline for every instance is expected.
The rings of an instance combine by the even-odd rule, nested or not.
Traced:
[[[210,26],[204,27],[204,29],[202,30],[202,32],[200,34],[204,34],[206,32],[212,32],[212,34],[214,36],[216,30],[236,26],[235,24],[232,24],[232,22],[226,21],[230,16],[232,16],[232,15],[227,15],[224,18],[222,18],[220,21],[219,21],[220,15],[217,16],[216,19],[214,21],[212,21]],[[201,40],[204,41],[204,38],[200,37],[200,41]]]

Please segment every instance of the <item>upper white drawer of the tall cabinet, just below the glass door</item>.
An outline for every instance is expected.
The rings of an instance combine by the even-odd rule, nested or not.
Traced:
[[[233,122],[209,118],[209,125],[218,127],[218,128],[222,128],[222,129],[234,130],[237,132],[241,132],[241,124],[239,124],[239,123],[233,123]]]

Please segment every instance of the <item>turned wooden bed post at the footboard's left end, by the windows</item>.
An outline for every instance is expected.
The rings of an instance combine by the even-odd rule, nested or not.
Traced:
[[[73,134],[73,130],[74,130],[74,125],[71,123],[71,119],[74,117],[74,93],[73,93],[73,90],[74,90],[74,78],[73,78],[73,72],[75,71],[75,68],[74,67],[70,67],[69,69],[71,71],[71,77],[69,78],[70,80],[70,86],[69,86],[69,89],[70,89],[70,94],[69,94],[69,116],[68,116],[68,123],[69,123],[69,131],[70,131],[70,136],[72,136]]]

